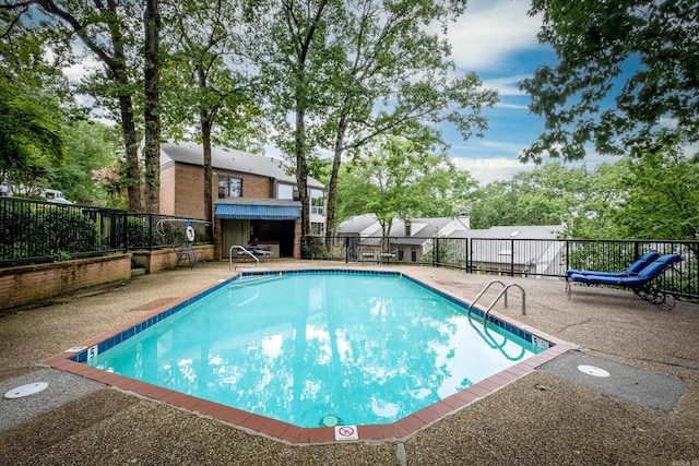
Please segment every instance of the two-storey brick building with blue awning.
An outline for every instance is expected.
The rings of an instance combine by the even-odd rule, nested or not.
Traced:
[[[296,178],[281,160],[212,147],[214,255],[258,248],[270,256],[300,258],[300,202]],[[205,218],[203,147],[191,142],[161,145],[161,213]],[[308,179],[311,231],[324,232],[324,187]],[[297,199],[297,198],[296,198]]]

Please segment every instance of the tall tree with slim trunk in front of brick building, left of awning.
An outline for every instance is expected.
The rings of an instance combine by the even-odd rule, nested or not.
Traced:
[[[242,12],[236,3],[216,1],[202,8],[200,2],[185,1],[173,5],[169,68],[166,70],[165,105],[170,132],[180,124],[197,126],[203,146],[204,213],[212,220],[213,169],[212,143],[216,127],[225,127],[225,140],[241,141],[254,136],[254,119],[259,111],[252,104],[250,79],[239,70],[241,45],[239,24]],[[248,130],[251,134],[242,136]],[[236,136],[237,134],[237,136]]]

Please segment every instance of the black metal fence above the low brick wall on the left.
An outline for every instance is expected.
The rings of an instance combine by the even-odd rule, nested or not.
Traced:
[[[188,229],[188,227],[191,227]],[[0,199],[0,266],[211,243],[211,224],[116,208]]]

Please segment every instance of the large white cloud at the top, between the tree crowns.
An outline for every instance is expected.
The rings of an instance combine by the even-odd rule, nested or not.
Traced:
[[[449,27],[457,65],[493,69],[510,53],[537,48],[541,19],[531,17],[529,7],[523,0],[471,0],[464,15]]]

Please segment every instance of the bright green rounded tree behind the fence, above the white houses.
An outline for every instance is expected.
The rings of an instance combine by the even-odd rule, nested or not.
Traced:
[[[348,164],[340,181],[343,217],[374,214],[387,238],[394,218],[451,217],[463,212],[463,192],[475,187],[446,156],[404,138],[377,140],[369,155]],[[454,194],[458,194],[454,198]]]

